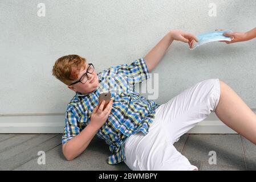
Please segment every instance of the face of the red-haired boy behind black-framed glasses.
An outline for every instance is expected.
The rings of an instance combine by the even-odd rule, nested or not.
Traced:
[[[78,81],[84,75],[84,73],[86,73],[89,65],[86,64],[85,67],[86,68],[82,67],[80,69],[78,79],[75,81]],[[97,88],[97,86],[99,85],[99,78],[97,77],[97,73],[96,73],[95,69],[94,69],[94,72],[87,73],[87,75],[88,75],[88,80],[84,84],[82,84],[82,82],[77,82],[76,84],[73,84],[70,86],[68,85],[68,88],[70,88],[71,90],[74,90],[75,92],[80,92],[83,94],[87,94],[87,93],[94,91]]]

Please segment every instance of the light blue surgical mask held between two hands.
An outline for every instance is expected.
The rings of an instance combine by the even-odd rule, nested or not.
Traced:
[[[201,46],[202,44],[209,43],[209,42],[216,42],[216,41],[221,41],[221,40],[226,40],[226,41],[233,40],[234,39],[233,37],[231,38],[231,37],[227,37],[227,36],[223,35],[226,32],[232,32],[232,31],[231,30],[214,31],[214,32],[207,32],[205,34],[197,35],[198,42],[193,40],[189,45],[189,49],[193,50],[194,48]]]

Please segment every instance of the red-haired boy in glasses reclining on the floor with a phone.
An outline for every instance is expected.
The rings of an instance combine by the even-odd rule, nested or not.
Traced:
[[[218,79],[199,82],[162,105],[135,92],[135,83],[149,78],[173,40],[197,42],[192,34],[172,30],[144,58],[101,73],[78,55],[56,60],[52,75],[76,92],[67,107],[62,139],[67,160],[86,150],[97,135],[109,144],[108,164],[124,161],[132,170],[197,170],[173,143],[212,111],[256,143],[255,114]],[[98,105],[99,93],[109,89],[112,101],[103,110],[104,101]]]

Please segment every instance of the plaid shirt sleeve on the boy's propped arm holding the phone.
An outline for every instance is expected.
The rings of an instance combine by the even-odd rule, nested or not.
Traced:
[[[80,133],[78,118],[76,117],[75,111],[66,111],[65,123],[64,132],[62,135],[62,144],[67,143]]]

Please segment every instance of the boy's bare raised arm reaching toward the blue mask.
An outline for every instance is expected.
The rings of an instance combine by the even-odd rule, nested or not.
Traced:
[[[160,62],[162,57],[165,55],[166,50],[172,44],[173,40],[178,40],[184,43],[190,43],[192,40],[196,40],[198,42],[196,36],[189,34],[187,32],[181,30],[172,30],[169,31],[168,34],[164,36],[160,40],[159,43],[156,44],[151,51],[147,53],[144,57],[145,62],[147,63],[149,72],[152,71],[153,68]]]

